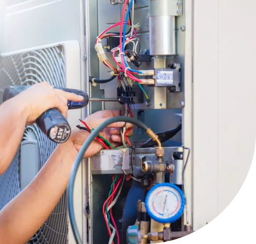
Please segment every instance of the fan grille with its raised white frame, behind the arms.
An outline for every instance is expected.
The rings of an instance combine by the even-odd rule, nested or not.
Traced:
[[[33,85],[48,81],[51,85],[81,89],[80,48],[78,41],[65,41],[14,53],[1,54],[0,102],[3,90],[9,85]],[[81,110],[68,111],[67,119],[73,127],[81,118]],[[26,127],[24,136],[8,170],[0,176],[0,209],[33,180],[55,149],[56,143],[33,124]],[[76,187],[82,192],[82,184]],[[77,194],[76,204],[82,210],[82,196]],[[82,225],[81,214],[77,216]],[[80,226],[81,228],[81,226]],[[69,233],[66,193],[51,216],[28,243],[72,243]]]

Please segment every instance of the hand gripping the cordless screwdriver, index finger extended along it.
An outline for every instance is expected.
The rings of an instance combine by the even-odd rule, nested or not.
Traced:
[[[68,110],[68,100],[80,102],[83,97],[74,93],[54,89],[48,82],[37,83],[15,96],[16,103],[24,106],[27,115],[26,124],[32,124],[49,108],[58,108],[64,117]]]

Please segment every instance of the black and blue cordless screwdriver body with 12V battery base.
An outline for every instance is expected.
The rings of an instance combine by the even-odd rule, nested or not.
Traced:
[[[3,102],[13,98],[23,90],[30,87],[31,86],[6,86],[3,95]],[[75,90],[59,86],[54,86],[54,88],[75,93],[84,97],[84,100],[81,102],[68,101],[68,109],[84,108],[88,105],[89,97],[88,94],[83,90]],[[64,143],[70,137],[70,125],[58,108],[48,109],[37,118],[36,122],[41,131],[43,131],[43,133],[45,133],[47,137],[54,142]]]

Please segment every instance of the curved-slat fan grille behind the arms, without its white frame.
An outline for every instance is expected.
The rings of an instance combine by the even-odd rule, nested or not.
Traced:
[[[0,59],[0,102],[3,90],[9,85],[33,85],[48,81],[65,86],[65,54],[62,45],[15,54]],[[56,144],[45,136],[37,125],[26,127],[23,140],[37,140],[41,167]],[[20,192],[20,147],[7,171],[0,176],[0,209]],[[63,244],[67,242],[66,193],[50,217],[30,239],[29,244]]]

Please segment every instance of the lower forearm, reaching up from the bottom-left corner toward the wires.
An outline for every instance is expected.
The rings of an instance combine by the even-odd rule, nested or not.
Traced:
[[[24,244],[42,226],[68,185],[76,155],[70,140],[58,145],[33,181],[0,211],[0,244]]]

